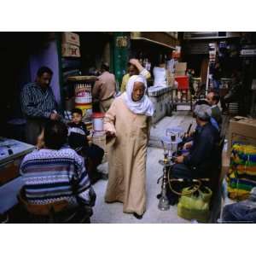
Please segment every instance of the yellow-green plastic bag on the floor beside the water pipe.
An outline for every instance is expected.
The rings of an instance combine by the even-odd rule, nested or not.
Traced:
[[[180,197],[177,204],[177,215],[181,218],[196,219],[199,222],[207,223],[210,217],[212,190],[205,186],[194,193],[193,190],[195,190],[193,187],[183,189],[184,195]],[[190,194],[189,191],[191,191]]]

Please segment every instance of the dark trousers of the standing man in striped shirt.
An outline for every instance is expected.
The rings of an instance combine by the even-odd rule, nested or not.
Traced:
[[[26,119],[26,143],[36,145],[44,128],[45,119]]]

